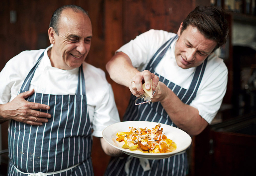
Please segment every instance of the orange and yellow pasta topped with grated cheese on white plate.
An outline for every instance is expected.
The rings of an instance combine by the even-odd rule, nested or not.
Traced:
[[[129,132],[117,132],[116,141],[123,143],[123,148],[140,150],[145,153],[167,153],[176,150],[177,146],[163,134],[161,124],[152,129],[129,127]]]

